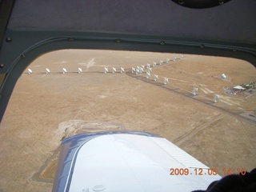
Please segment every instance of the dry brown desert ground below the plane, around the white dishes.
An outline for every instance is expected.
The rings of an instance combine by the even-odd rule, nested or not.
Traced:
[[[147,63],[150,77],[146,69],[131,73],[132,67]],[[42,55],[28,68],[33,73],[26,70],[19,78],[0,125],[1,192],[51,191],[58,146],[63,138],[81,132],[159,134],[221,176],[223,169],[237,174],[238,168],[256,167],[256,95],[224,92],[256,81],[249,62],[189,54],[59,50]],[[166,85],[164,77],[169,78]],[[219,95],[217,102],[214,94]]]

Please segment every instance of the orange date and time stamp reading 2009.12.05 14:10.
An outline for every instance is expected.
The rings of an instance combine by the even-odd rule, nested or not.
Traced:
[[[223,175],[227,174],[246,174],[245,168],[238,168],[238,169],[231,169],[231,168],[223,168],[221,170],[221,173]],[[217,170],[217,168],[195,168],[195,169],[189,169],[189,168],[170,168],[170,175],[217,175],[220,174]]]

